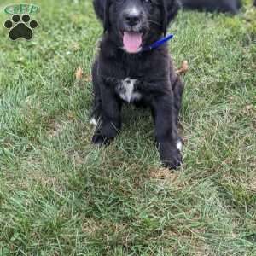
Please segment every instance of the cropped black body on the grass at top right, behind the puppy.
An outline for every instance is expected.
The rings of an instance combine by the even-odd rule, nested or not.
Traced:
[[[236,14],[241,0],[181,0],[184,8]]]

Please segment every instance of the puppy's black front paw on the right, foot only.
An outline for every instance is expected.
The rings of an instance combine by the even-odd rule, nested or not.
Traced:
[[[183,163],[182,154],[176,147],[169,148],[166,151],[167,148],[161,150],[161,161],[167,168],[176,170]]]

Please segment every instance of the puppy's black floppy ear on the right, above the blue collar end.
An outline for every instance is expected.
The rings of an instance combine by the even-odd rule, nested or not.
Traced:
[[[178,0],[162,0],[163,1],[163,31],[166,34],[167,26],[176,17],[181,4]]]

